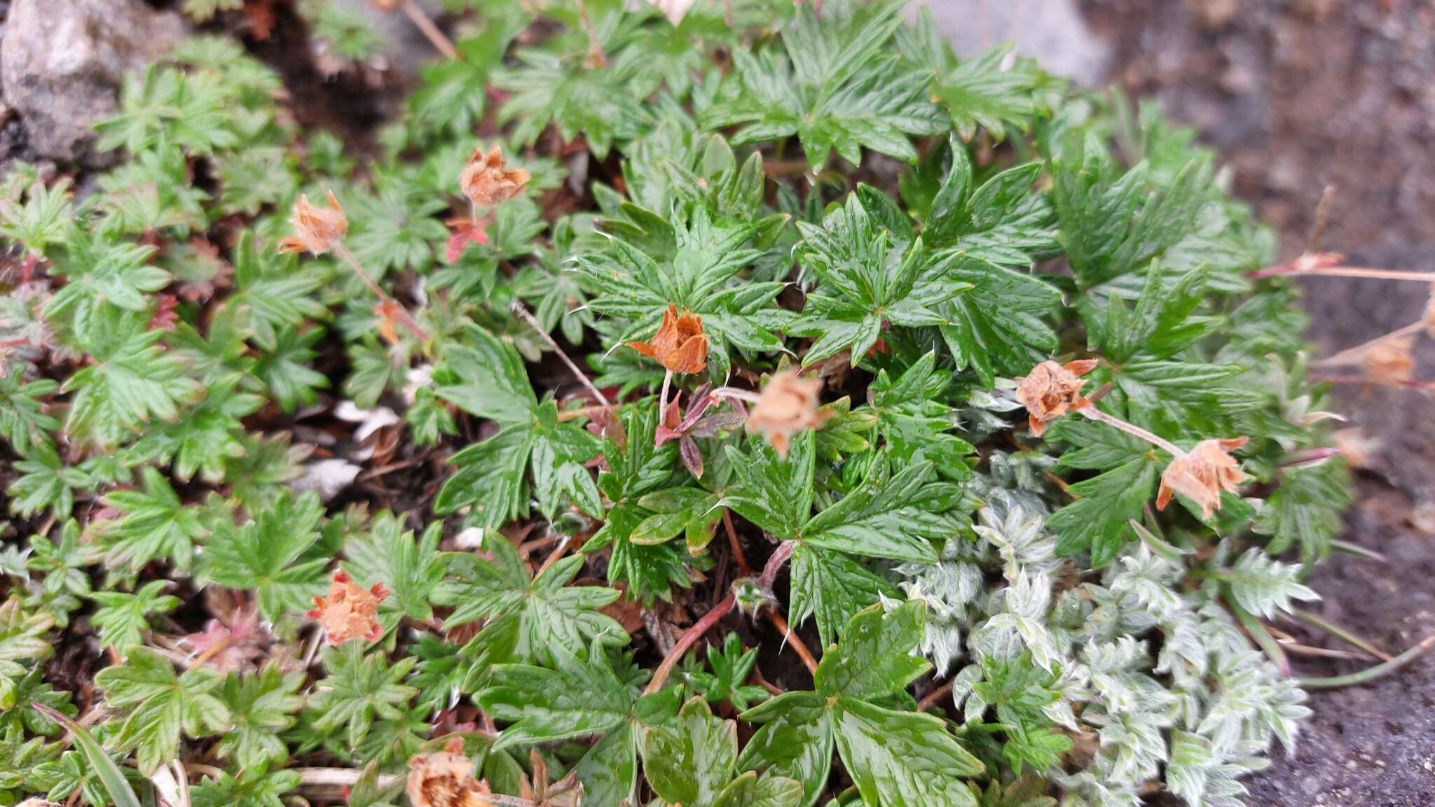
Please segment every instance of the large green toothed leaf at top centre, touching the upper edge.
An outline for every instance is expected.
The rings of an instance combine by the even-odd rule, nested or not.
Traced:
[[[926,97],[930,73],[878,56],[901,26],[900,3],[831,1],[819,17],[798,9],[782,32],[786,57],[733,50],[736,72],[702,123],[745,123],[733,145],[798,136],[814,172],[832,149],[857,165],[862,146],[916,161],[908,135],[938,135],[946,115]]]

